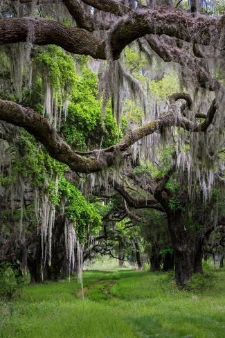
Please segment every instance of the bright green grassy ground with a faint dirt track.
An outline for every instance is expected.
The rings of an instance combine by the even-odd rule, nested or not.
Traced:
[[[0,305],[1,338],[225,337],[225,270],[178,290],[171,274],[134,270],[84,272],[28,285]]]

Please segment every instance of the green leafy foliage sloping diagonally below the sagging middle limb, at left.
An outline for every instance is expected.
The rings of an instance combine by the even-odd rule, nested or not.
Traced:
[[[61,202],[66,201],[66,215],[76,224],[80,240],[84,240],[87,227],[93,234],[98,232],[101,217],[80,190],[66,180],[64,174],[67,167],[52,159],[44,147],[38,146],[33,136],[27,132],[21,131],[20,142],[24,156],[13,163],[13,175],[23,175],[29,179],[33,188],[39,188],[41,193],[46,193],[57,208],[60,208]]]

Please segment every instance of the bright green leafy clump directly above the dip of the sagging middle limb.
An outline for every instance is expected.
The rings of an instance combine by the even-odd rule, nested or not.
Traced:
[[[63,127],[66,141],[80,150],[107,147],[116,142],[117,127],[110,105],[102,119],[102,100],[98,97],[97,74],[84,67],[73,87],[68,118]]]

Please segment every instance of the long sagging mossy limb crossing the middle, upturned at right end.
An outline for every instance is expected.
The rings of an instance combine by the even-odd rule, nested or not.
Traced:
[[[178,96],[177,98],[181,97]],[[94,150],[89,157],[82,157],[72,150],[71,146],[62,139],[46,118],[37,114],[33,109],[0,99],[0,119],[2,121],[24,127],[25,130],[33,134],[38,141],[46,146],[51,157],[65,163],[75,172],[85,173],[98,172],[112,166],[118,158],[118,154],[123,154],[136,141],[162,128],[177,125],[193,132],[205,131],[213,121],[215,112],[216,105],[215,101],[213,101],[204,123],[196,125],[186,118],[178,118],[179,104],[173,102],[168,109],[168,114],[129,132],[117,145],[106,150]]]

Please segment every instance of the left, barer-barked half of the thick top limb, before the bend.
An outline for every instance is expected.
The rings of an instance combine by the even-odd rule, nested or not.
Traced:
[[[104,41],[87,30],[69,28],[53,20],[30,17],[0,20],[0,44],[29,40],[33,44],[55,44],[71,53],[105,59]]]

